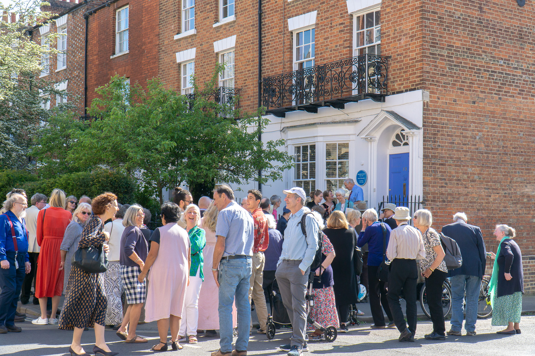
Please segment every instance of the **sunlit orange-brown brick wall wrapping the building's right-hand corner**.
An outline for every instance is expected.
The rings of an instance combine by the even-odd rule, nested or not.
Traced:
[[[515,227],[532,286],[535,6],[384,0],[381,11],[392,93],[430,92],[423,178],[435,226],[465,211],[494,251],[494,225]]]

